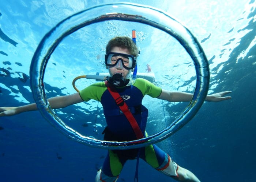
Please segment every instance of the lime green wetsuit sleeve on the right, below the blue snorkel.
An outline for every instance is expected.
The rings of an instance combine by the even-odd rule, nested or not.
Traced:
[[[153,98],[158,97],[162,93],[162,88],[155,86],[153,83],[148,80],[138,78],[136,79],[133,86],[139,88],[143,96],[149,95]]]

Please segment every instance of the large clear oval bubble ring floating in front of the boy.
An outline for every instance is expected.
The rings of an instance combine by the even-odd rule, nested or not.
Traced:
[[[86,137],[68,127],[56,115],[46,100],[43,78],[46,64],[54,49],[64,37],[78,29],[106,20],[133,21],[161,29],[177,39],[193,60],[196,70],[196,87],[193,98],[181,115],[157,134],[129,142],[101,141]],[[35,51],[31,61],[30,78],[31,90],[38,110],[50,124],[77,142],[93,147],[120,150],[139,148],[160,142],[188,123],[204,102],[209,87],[210,73],[208,61],[202,47],[184,25],[159,9],[139,4],[116,3],[98,5],[76,13],[67,17],[50,30]]]

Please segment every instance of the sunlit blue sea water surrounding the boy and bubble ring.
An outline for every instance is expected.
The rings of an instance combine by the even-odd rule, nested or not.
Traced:
[[[42,39],[64,18],[97,4],[121,1],[2,0],[0,3],[0,106],[34,102],[29,83],[32,56]],[[178,165],[201,181],[255,181],[256,163],[256,2],[129,1],[162,9],[185,24],[203,47],[210,64],[209,93],[231,90],[231,100],[205,102],[181,130],[158,145]],[[72,94],[79,75],[105,73],[102,54],[114,36],[137,31],[141,50],[138,72],[150,64],[164,89],[193,92],[195,70],[183,47],[165,32],[147,25],[106,21],[89,25],[63,40],[45,73],[47,97]],[[82,89],[95,80],[79,80]],[[56,110],[75,130],[102,139],[105,127],[97,102]],[[154,134],[172,122],[187,103],[146,97],[147,131]],[[166,114],[163,117],[163,108]],[[96,119],[97,113],[97,119]],[[95,120],[99,134],[94,132]],[[106,150],[82,145],[52,127],[38,111],[0,118],[0,181],[94,181]],[[133,181],[136,161],[129,161],[119,181]],[[172,181],[140,160],[139,181]]]

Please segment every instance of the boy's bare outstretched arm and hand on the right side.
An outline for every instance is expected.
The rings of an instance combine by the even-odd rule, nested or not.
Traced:
[[[206,96],[206,101],[209,102],[220,102],[222,100],[231,99],[231,96],[224,96],[231,93],[231,91],[218,92]],[[158,99],[167,100],[169,102],[189,102],[192,99],[193,94],[187,92],[170,92],[162,90],[162,93],[157,97]]]

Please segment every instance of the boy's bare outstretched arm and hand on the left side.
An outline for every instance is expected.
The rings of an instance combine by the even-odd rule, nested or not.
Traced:
[[[79,93],[75,93],[72,95],[53,97],[48,99],[48,102],[53,109],[56,109],[83,102],[83,99],[80,97]],[[19,107],[0,107],[0,116],[12,116],[21,112],[35,110],[37,110],[37,105],[35,103]]]

